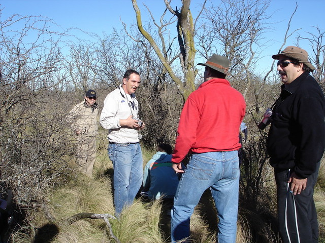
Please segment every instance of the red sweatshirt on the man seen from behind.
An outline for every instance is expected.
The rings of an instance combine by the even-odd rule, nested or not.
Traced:
[[[180,163],[189,151],[238,150],[245,109],[244,97],[228,80],[213,78],[204,82],[185,102],[172,161]]]

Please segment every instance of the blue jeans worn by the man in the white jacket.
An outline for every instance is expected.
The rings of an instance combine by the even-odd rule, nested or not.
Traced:
[[[139,143],[110,143],[108,156],[114,168],[115,216],[133,203],[143,178],[143,158]]]

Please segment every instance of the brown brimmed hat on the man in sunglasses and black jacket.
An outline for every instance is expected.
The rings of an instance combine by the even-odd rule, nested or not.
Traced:
[[[314,71],[314,66],[310,63],[308,59],[308,53],[299,47],[288,46],[279,54],[275,54],[272,56],[273,59],[279,60],[280,56],[287,57],[289,59],[293,59],[297,62],[305,63],[307,67]]]

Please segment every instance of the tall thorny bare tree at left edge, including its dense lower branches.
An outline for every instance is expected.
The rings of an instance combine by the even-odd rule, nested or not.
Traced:
[[[20,210],[46,207],[45,193],[64,181],[58,178],[71,154],[69,138],[62,139],[64,104],[51,86],[64,33],[52,25],[40,16],[0,21],[0,185],[13,191]]]

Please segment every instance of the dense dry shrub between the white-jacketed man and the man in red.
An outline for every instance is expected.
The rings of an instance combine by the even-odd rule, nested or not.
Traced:
[[[158,80],[157,80],[158,79]],[[141,131],[142,144],[156,149],[161,143],[174,144],[183,100],[173,82],[157,77],[144,80],[146,84],[137,93],[140,118],[146,124]]]

